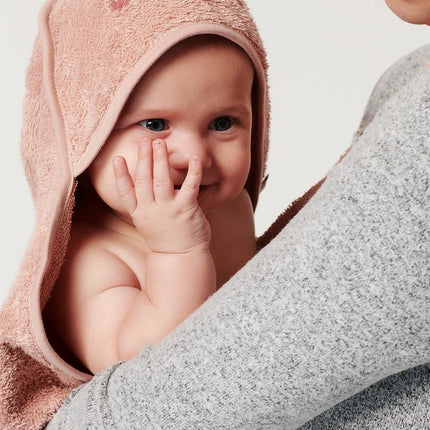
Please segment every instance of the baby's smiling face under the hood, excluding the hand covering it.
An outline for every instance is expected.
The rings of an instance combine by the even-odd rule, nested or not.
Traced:
[[[229,44],[187,43],[170,50],[136,86],[89,168],[100,197],[124,214],[112,158],[122,155],[134,177],[139,142],[162,138],[175,188],[197,154],[203,161],[201,208],[209,211],[233,200],[251,162],[253,79],[246,54]]]

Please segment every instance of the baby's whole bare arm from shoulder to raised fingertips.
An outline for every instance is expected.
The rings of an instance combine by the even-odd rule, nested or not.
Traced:
[[[45,310],[50,327],[94,374],[163,339],[216,290],[211,231],[197,203],[201,161],[191,163],[177,192],[160,145],[153,173],[150,144],[140,148],[134,181],[124,160],[115,160],[121,201],[153,250],[141,262],[144,285],[91,226],[78,224]]]

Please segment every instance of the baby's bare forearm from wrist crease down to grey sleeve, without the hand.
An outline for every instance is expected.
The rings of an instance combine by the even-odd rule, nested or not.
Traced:
[[[120,326],[118,358],[113,361],[131,359],[144,345],[163,339],[216,290],[209,251],[152,253],[145,270],[145,291],[135,292]]]

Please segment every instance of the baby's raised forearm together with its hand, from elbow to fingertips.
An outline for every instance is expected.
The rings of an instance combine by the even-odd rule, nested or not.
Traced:
[[[144,290],[136,294],[118,332],[119,360],[160,341],[216,291],[210,226],[197,202],[201,160],[191,159],[181,190],[175,191],[165,143],[156,140],[152,146],[148,141],[140,145],[134,181],[125,160],[114,160],[120,200],[152,250]]]

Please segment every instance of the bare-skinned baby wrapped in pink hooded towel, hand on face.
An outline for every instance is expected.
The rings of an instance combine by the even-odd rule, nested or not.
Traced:
[[[239,46],[199,35],[134,88],[81,175],[68,253],[44,309],[51,343],[75,367],[95,374],[136,356],[255,255],[244,187],[253,83]]]

